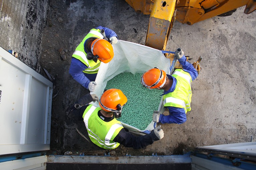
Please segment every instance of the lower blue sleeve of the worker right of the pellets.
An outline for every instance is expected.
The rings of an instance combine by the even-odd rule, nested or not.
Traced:
[[[169,115],[160,114],[160,123],[176,123],[182,124],[187,121],[187,116],[184,108],[178,107],[167,107],[169,110]]]

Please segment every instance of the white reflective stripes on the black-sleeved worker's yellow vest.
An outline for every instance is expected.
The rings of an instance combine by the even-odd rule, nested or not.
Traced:
[[[104,141],[101,140],[98,135],[96,135],[95,133],[93,133],[91,131],[91,129],[88,128],[88,120],[90,118],[90,116],[92,115],[92,113],[95,111],[95,109],[97,108],[96,106],[93,106],[93,105],[89,105],[88,107],[89,110],[85,113],[84,115],[84,118],[83,118],[83,121],[84,121],[84,124],[85,124],[85,127],[86,129],[91,133],[88,132],[88,135],[89,137],[95,139],[97,141],[97,143],[95,144],[100,144],[102,148],[107,148],[107,149],[114,149],[116,148],[117,146],[119,146],[119,143],[117,142],[113,142],[110,143],[110,140],[111,140],[111,137],[114,135],[115,131],[122,127],[122,125],[120,123],[115,123],[115,124],[112,124],[112,126],[110,127],[110,129],[108,130],[105,138],[104,138]],[[93,141],[92,141],[93,142]],[[94,143],[94,142],[93,142]],[[118,144],[118,145],[117,145]]]

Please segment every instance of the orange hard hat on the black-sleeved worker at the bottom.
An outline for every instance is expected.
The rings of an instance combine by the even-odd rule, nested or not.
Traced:
[[[123,92],[119,89],[108,89],[106,90],[99,99],[99,106],[102,110],[105,111],[113,111],[120,112],[121,108],[117,108],[119,106],[123,106],[127,102],[127,97],[123,94]]]

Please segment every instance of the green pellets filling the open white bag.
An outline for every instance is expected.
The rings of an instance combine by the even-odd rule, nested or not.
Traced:
[[[145,130],[152,121],[154,110],[158,110],[163,90],[148,89],[141,84],[143,73],[133,75],[123,72],[107,82],[105,89],[122,90],[127,97],[127,103],[122,108],[119,121]]]

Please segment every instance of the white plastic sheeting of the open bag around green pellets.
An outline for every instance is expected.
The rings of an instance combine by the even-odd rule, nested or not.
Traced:
[[[122,72],[130,72],[132,74],[144,73],[154,67],[158,67],[166,73],[170,72],[170,60],[167,59],[160,50],[122,40],[119,40],[117,44],[113,45],[113,49],[113,59],[107,64],[100,64],[99,72],[95,80],[97,86],[93,93],[99,97],[102,95],[107,81]],[[144,95],[143,91],[141,95]],[[92,104],[98,106],[98,103]],[[159,110],[161,109],[161,104],[162,103],[160,103]],[[145,130],[140,130],[124,122],[122,122],[122,125],[129,130],[145,133],[149,133],[155,127],[154,122],[151,122]]]

